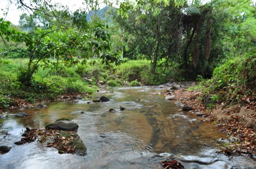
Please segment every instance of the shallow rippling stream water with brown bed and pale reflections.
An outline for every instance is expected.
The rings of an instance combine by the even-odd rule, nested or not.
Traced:
[[[109,90],[114,92],[106,92]],[[0,145],[12,147],[9,153],[0,155],[0,168],[161,168],[159,161],[164,157],[158,157],[160,153],[173,156],[185,168],[256,166],[248,157],[229,158],[215,153],[222,144],[218,139],[225,135],[211,124],[201,123],[201,117],[181,111],[163,95],[150,94],[160,90],[163,89],[109,88],[76,104],[61,101],[42,109],[14,110],[0,119],[1,129],[11,134],[6,138],[0,135]],[[102,95],[110,101],[87,104]],[[119,111],[120,106],[126,110]],[[116,111],[109,112],[110,108]],[[17,117],[14,115],[17,112],[29,115]],[[62,117],[79,125],[77,134],[87,148],[86,156],[58,154],[54,148],[46,148],[37,141],[13,144],[20,140],[25,127],[44,128]]]

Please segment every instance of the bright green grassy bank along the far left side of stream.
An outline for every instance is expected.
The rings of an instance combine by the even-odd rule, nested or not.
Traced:
[[[53,100],[60,95],[93,93],[100,85],[156,85],[167,82],[171,77],[170,73],[163,74],[161,69],[151,76],[151,65],[147,60],[126,61],[112,71],[104,69],[100,61],[95,60],[94,65],[89,64],[91,61],[94,60],[88,60],[86,65],[77,64],[71,67],[58,63],[57,68],[53,65],[46,67],[41,62],[30,85],[25,86],[19,82],[19,78],[20,72],[26,70],[28,59],[2,59],[0,107],[8,108],[17,99],[35,103]]]

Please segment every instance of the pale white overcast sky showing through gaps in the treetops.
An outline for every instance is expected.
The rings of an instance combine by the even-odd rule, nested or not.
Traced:
[[[15,2],[15,0],[13,0]],[[210,0],[205,0],[205,2]],[[3,9],[6,12],[6,7],[8,7],[8,0],[0,0],[0,9]],[[25,3],[29,3],[30,0],[24,0]],[[82,3],[84,0],[52,0],[52,3],[61,3],[63,5],[67,5],[69,7],[70,11],[75,11],[78,8],[85,8]],[[253,0],[255,3],[256,0]],[[100,8],[103,8],[105,5],[102,3],[100,5]],[[19,16],[25,13],[25,11],[17,10],[17,6],[15,4],[10,4],[9,12],[5,20],[11,21],[14,25],[19,24]],[[27,12],[26,12],[27,13]],[[4,17],[3,11],[0,11],[0,18]]]

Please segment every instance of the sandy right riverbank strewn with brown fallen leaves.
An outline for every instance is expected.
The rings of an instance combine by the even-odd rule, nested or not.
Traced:
[[[199,90],[178,89],[173,90],[173,95],[181,106],[190,106],[191,113],[205,117],[202,122],[208,121],[218,127],[220,132],[227,134],[219,153],[248,154],[256,158],[256,113],[249,105],[221,103],[209,109],[203,103],[203,93]]]

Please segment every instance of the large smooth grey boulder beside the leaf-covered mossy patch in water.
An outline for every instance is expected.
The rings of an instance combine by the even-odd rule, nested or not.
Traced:
[[[73,131],[77,130],[78,125],[74,123],[73,121],[67,121],[67,120],[60,120],[56,121],[52,124],[49,124],[45,126],[46,129],[52,129],[52,130],[64,130],[64,131]]]

